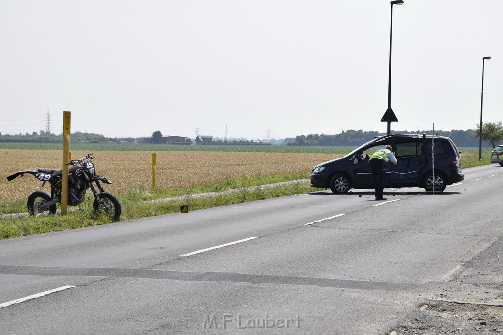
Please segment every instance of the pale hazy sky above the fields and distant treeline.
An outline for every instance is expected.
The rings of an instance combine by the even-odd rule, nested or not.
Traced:
[[[503,121],[502,14],[393,6],[392,131],[477,129],[482,101]],[[112,138],[386,132],[390,21],[384,0],[2,0],[0,132],[61,134],[63,111]]]

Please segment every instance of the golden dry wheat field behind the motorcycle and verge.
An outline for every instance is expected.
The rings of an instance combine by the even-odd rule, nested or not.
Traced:
[[[71,158],[88,154],[72,151]],[[95,151],[96,171],[112,181],[105,190],[121,194],[152,187],[152,153],[149,151]],[[318,163],[342,157],[326,153],[274,152],[217,152],[217,151],[161,151],[156,152],[155,185],[163,189],[217,184],[227,178],[270,176],[304,173],[309,177]],[[33,175],[25,174],[11,182],[7,176],[20,170],[38,167],[61,168],[59,150],[0,149],[0,201],[27,198],[40,190],[42,183]],[[49,188],[47,185],[45,190]]]

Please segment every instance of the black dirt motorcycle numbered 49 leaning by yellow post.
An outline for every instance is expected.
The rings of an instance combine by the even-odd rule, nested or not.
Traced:
[[[121,216],[121,204],[115,195],[105,192],[101,183],[112,184],[112,182],[104,176],[96,174],[96,168],[93,163],[95,157],[89,154],[79,160],[70,160],[66,165],[68,167],[68,205],[76,206],[84,202],[86,199],[86,191],[91,189],[94,194],[93,207],[96,212],[104,211],[106,214],[113,216],[118,220]],[[63,170],[38,168],[35,170],[18,171],[7,177],[8,181],[12,181],[17,176],[22,176],[25,173],[33,174],[38,180],[42,181],[42,187],[48,182],[51,185],[51,194],[44,191],[35,191],[28,197],[26,206],[31,215],[40,215],[43,212],[49,214],[56,213],[56,207],[61,203],[61,189],[63,185]],[[96,184],[96,187],[94,184]],[[96,190],[100,192],[98,192]]]

